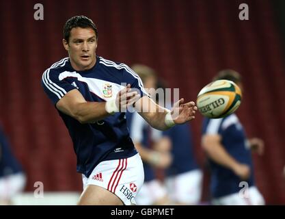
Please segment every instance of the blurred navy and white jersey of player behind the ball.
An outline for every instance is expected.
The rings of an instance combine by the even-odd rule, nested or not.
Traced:
[[[210,119],[203,121],[202,133],[221,136],[221,144],[226,151],[238,162],[247,164],[251,168],[251,175],[247,180],[250,186],[254,185],[254,170],[252,165],[252,155],[249,149],[245,130],[239,122],[236,114],[231,114],[226,118]],[[214,198],[226,196],[239,192],[241,180],[232,170],[221,166],[209,159],[211,166],[211,193]]]

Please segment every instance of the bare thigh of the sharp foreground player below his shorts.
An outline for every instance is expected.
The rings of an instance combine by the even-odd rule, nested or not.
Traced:
[[[121,199],[98,185],[87,185],[77,205],[123,205]]]

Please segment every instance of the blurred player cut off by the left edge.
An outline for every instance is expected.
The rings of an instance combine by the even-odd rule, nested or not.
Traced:
[[[12,198],[23,192],[26,176],[14,157],[8,139],[0,127],[0,205],[12,205]]]

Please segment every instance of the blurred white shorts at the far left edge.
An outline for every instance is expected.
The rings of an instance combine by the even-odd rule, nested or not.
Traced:
[[[10,200],[18,192],[22,192],[26,185],[26,176],[23,172],[0,178],[0,199]]]

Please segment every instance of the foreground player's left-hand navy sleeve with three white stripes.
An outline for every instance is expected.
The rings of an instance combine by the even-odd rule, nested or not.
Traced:
[[[42,74],[42,87],[54,104],[62,99],[68,91],[76,89],[67,81],[59,80],[59,72],[53,68],[48,68]]]

